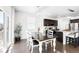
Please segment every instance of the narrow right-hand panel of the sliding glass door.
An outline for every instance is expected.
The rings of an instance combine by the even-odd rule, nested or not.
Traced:
[[[6,51],[9,47],[9,16],[6,13],[3,14],[4,19],[4,51]]]

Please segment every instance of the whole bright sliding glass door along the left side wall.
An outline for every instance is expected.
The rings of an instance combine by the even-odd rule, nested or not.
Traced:
[[[9,43],[9,16],[0,10],[0,52],[6,52]]]

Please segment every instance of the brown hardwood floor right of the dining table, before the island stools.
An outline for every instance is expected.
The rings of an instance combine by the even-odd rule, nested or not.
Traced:
[[[63,46],[62,43],[57,42],[56,43],[56,50],[59,51],[60,53],[79,53],[79,46],[74,47],[72,45],[66,45]]]

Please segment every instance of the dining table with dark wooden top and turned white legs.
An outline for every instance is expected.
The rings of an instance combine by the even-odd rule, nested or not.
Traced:
[[[39,53],[42,53],[42,44],[45,42],[50,41],[51,42],[51,47],[53,47],[53,51],[56,51],[56,37],[53,38],[47,38],[46,36],[39,36],[38,39],[34,39],[39,42]],[[53,42],[53,43],[52,43]]]

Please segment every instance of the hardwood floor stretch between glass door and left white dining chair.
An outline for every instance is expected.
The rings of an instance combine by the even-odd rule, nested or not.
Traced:
[[[21,40],[15,43],[11,49],[11,53],[30,53],[26,45],[26,40]]]

